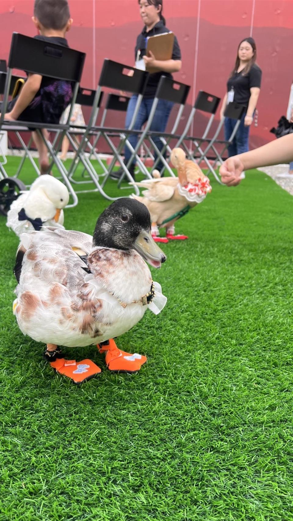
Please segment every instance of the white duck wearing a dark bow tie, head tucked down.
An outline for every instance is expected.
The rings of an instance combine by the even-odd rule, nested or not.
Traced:
[[[28,192],[23,192],[11,204],[6,226],[18,237],[24,231],[38,231],[42,226],[64,228],[62,208],[68,201],[68,190],[61,181],[47,174],[40,176]]]

